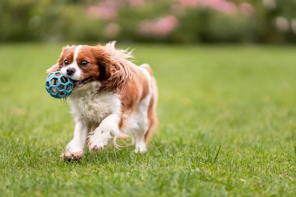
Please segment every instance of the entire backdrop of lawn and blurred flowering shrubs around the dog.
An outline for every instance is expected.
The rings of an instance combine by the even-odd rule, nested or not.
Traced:
[[[60,162],[45,70],[111,40],[151,65],[160,127],[144,157]],[[0,0],[0,197],[296,196],[295,43],[296,0]]]

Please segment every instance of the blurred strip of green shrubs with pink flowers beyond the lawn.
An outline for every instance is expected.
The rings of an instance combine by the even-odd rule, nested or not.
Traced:
[[[0,0],[0,42],[296,43],[296,0]]]

